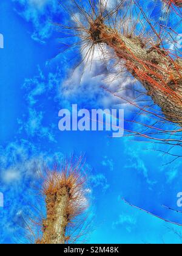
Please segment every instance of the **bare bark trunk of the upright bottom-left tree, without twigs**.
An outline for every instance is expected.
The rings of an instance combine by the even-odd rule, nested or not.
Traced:
[[[41,244],[64,244],[66,241],[67,207],[69,191],[62,187],[56,193],[46,195],[47,219],[43,221]]]

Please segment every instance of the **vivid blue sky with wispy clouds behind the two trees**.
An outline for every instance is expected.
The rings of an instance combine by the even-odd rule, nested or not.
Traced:
[[[86,155],[94,231],[88,243],[180,243],[180,227],[136,210],[121,200],[174,222],[180,214],[161,205],[177,207],[182,191],[181,161],[164,166],[169,156],[153,145],[129,138],[110,138],[107,132],[60,132],[58,112],[80,108],[112,107],[116,99],[103,92],[104,74],[92,71],[80,80],[74,70],[81,55],[63,52],[62,37],[52,21],[67,23],[58,1],[1,0],[0,33],[0,243],[16,243],[22,235],[22,215],[35,202],[35,162],[52,164],[73,152]],[[156,10],[157,12],[158,10]],[[71,61],[72,60],[72,61]],[[93,71],[94,73],[95,71]],[[163,149],[155,146],[155,149]]]

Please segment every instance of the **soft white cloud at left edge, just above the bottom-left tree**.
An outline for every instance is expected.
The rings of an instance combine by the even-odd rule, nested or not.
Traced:
[[[22,178],[36,178],[37,170],[44,164],[52,165],[53,161],[61,161],[61,152],[39,152],[33,144],[22,140],[21,143],[10,143],[7,148],[0,150],[0,177],[1,182],[21,182]]]

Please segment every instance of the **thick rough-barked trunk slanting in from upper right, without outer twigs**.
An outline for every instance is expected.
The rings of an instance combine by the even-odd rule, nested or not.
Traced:
[[[106,43],[127,70],[146,88],[169,121],[182,126],[182,62],[172,60],[159,45],[147,48],[140,38],[125,37],[106,26],[101,17],[90,26],[95,44]]]

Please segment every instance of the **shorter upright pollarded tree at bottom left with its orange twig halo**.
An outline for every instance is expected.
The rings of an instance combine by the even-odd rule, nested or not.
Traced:
[[[45,198],[45,216],[34,234],[36,244],[64,244],[84,241],[89,233],[86,176],[82,157],[78,162],[65,160],[61,166],[41,171],[41,197]],[[36,222],[36,223],[35,223]],[[30,227],[30,225],[29,225]],[[40,231],[41,230],[41,231]]]

